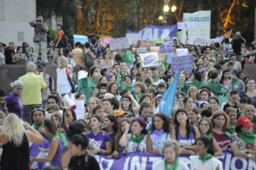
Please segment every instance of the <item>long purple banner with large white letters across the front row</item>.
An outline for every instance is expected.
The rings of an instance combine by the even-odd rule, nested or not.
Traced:
[[[127,155],[120,155],[120,159],[107,159],[103,155],[94,155],[97,162],[99,162],[100,169],[113,169],[113,170],[153,170],[153,166],[157,161],[163,159],[161,155],[150,153],[129,153]],[[179,160],[187,163],[190,167],[189,155],[179,155]],[[223,169],[248,169],[255,170],[256,163],[253,160],[239,158],[234,154],[224,151],[223,155],[217,158],[223,164]],[[159,169],[160,170],[160,169]]]

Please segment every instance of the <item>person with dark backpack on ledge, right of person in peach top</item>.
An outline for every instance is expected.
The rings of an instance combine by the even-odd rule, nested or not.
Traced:
[[[94,60],[97,55],[97,49],[94,46],[91,46],[89,42],[84,44],[85,49],[83,49],[80,58],[82,58],[82,67],[83,70],[90,70],[90,67],[93,66]]]

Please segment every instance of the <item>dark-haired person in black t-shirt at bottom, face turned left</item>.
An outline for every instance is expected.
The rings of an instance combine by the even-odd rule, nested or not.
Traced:
[[[69,150],[72,155],[69,162],[71,170],[84,169],[84,167],[87,167],[86,169],[100,170],[99,163],[94,156],[90,156],[85,152],[87,147],[87,136],[75,134],[69,138]]]

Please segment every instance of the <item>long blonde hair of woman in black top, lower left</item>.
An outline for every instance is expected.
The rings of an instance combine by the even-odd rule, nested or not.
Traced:
[[[8,142],[13,142],[14,146],[20,147],[25,133],[25,128],[21,119],[15,114],[9,114],[3,124],[3,130]]]

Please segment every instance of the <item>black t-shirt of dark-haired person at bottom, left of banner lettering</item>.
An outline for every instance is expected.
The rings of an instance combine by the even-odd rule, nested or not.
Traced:
[[[100,170],[99,163],[93,156],[88,155],[88,163],[85,165],[84,155],[72,156],[69,162],[69,168],[71,170]]]

